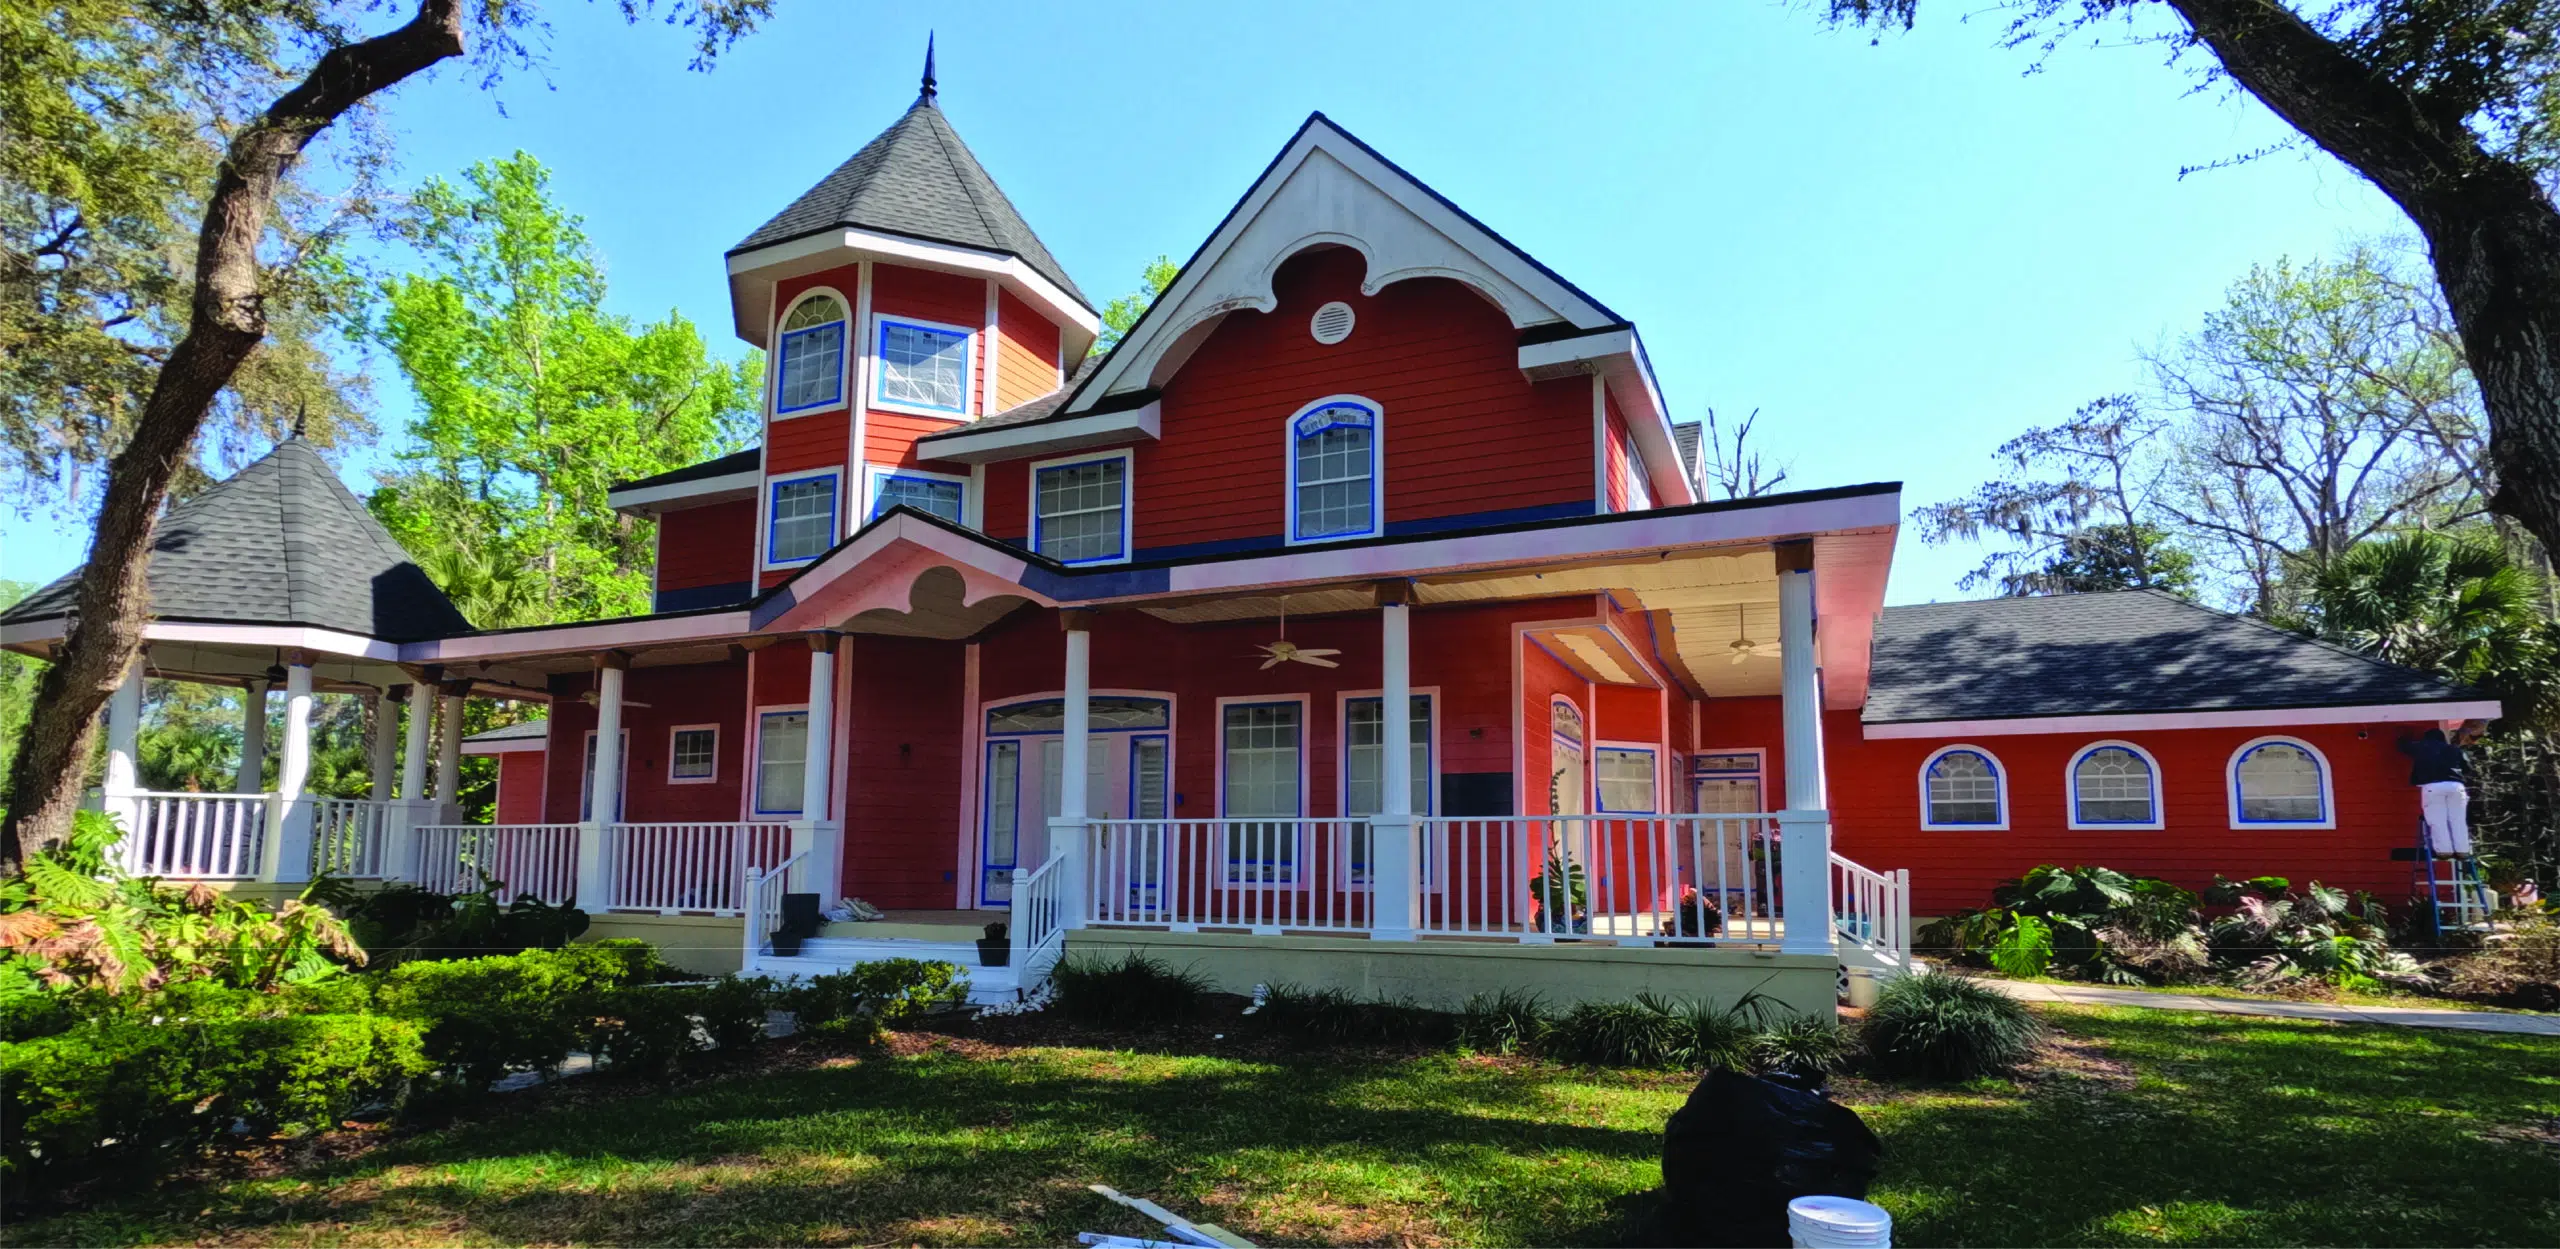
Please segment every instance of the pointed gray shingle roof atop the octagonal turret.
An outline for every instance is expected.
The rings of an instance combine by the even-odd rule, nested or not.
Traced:
[[[840,225],[1021,256],[1039,276],[1057,282],[1075,302],[1093,307],[1085,292],[1075,289],[1075,279],[1057,264],[1057,256],[1050,256],[1032,225],[1021,220],[1021,212],[1014,212],[1014,202],[1004,197],[978,156],[970,156],[968,143],[960,141],[929,95],[919,97],[896,125],[863,143],[863,151],[835,166],[817,187],[791,200],[791,207],[758,225],[730,253]]]

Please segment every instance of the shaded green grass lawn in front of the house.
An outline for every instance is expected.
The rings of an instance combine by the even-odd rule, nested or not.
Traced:
[[[2560,1044],[2051,1008],[2030,1078],[1848,1080],[1902,1244],[2560,1244]],[[584,1085],[584,1088],[581,1088]],[[571,1080],[8,1244],[1073,1244],[1108,1182],[1262,1244],[1615,1244],[1690,1080],[901,1037],[676,1093]],[[315,1149],[312,1154],[328,1154]]]

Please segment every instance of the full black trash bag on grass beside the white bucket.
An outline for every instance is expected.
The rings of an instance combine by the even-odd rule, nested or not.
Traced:
[[[1884,1142],[1818,1078],[1710,1070],[1661,1129],[1661,1244],[1792,1244],[1795,1198],[1866,1198]]]

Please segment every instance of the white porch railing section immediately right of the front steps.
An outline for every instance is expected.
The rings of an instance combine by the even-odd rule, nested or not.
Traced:
[[[1096,819],[1085,845],[1088,924],[1375,927],[1364,819]]]

